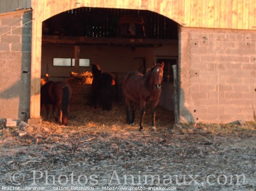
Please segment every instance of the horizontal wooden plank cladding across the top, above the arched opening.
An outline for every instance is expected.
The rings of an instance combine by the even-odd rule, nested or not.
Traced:
[[[6,0],[0,0],[6,1]],[[25,0],[20,0],[25,1]],[[46,20],[55,14],[78,7],[103,7],[150,10],[182,26],[256,29],[256,0],[32,0],[33,10],[40,9]]]

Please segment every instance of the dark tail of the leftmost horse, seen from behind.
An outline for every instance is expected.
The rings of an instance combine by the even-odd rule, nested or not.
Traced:
[[[62,111],[62,124],[67,125],[68,118],[68,105],[69,105],[69,89],[67,86],[62,87],[62,101],[61,101],[61,111]]]

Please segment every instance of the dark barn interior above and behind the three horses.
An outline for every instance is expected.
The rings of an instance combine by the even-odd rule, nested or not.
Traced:
[[[102,71],[115,75],[115,97],[122,100],[122,78],[128,71],[145,72],[162,61],[159,105],[173,111],[172,65],[178,62],[178,24],[173,20],[152,11],[82,7],[42,24],[41,75],[48,74],[48,80],[67,80],[72,72],[90,72],[91,64],[98,63]],[[90,85],[79,84],[73,88],[84,95],[76,96],[90,97]]]

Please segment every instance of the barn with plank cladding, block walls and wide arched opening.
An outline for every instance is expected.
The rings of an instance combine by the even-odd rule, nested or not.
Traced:
[[[256,1],[0,0],[0,119],[40,122],[40,80],[164,61],[182,123],[256,120]],[[173,101],[177,66],[178,100]]]

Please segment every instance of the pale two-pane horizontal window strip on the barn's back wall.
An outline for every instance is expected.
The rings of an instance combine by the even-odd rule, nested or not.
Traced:
[[[75,66],[75,58],[53,58],[53,66]],[[80,58],[79,66],[90,67],[90,59]]]

